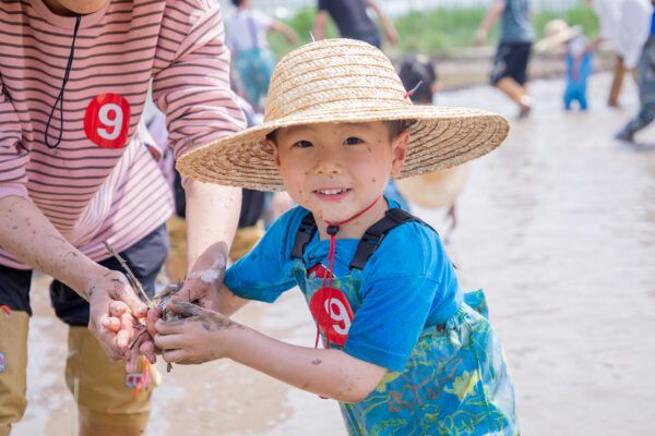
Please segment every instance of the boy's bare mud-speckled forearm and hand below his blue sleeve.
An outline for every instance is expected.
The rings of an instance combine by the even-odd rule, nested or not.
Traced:
[[[164,360],[198,364],[229,358],[299,389],[342,402],[358,402],[378,386],[386,368],[341,350],[291,346],[189,303],[170,308],[187,317],[158,320],[156,346]]]

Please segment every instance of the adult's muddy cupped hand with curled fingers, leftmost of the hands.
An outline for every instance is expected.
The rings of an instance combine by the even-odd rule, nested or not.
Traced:
[[[88,329],[114,361],[129,359],[129,346],[136,335],[138,318],[147,306],[139,300],[126,276],[106,269],[86,290],[90,303]]]

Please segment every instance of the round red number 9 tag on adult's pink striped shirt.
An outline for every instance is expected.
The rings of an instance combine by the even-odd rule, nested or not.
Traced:
[[[122,148],[127,144],[130,105],[118,94],[100,94],[86,107],[84,133],[103,148]]]

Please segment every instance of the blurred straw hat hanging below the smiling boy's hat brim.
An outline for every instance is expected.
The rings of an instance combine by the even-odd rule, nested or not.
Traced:
[[[398,180],[401,194],[420,207],[434,209],[452,206],[468,179],[468,165],[461,165]]]

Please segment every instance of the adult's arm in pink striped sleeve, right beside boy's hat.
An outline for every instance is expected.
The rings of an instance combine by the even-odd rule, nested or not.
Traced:
[[[229,86],[229,50],[218,4],[174,2],[162,23],[165,41],[155,56],[153,99],[166,113],[176,159],[240,131],[243,114]],[[188,259],[191,268],[179,299],[216,307],[241,191],[186,179]]]

